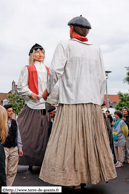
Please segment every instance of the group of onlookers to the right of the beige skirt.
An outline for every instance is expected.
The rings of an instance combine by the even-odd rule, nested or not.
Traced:
[[[106,117],[107,116],[107,117]],[[123,167],[123,163],[129,164],[129,109],[123,107],[122,111],[114,112],[115,119],[106,111],[105,124],[107,127],[110,147],[116,168]]]

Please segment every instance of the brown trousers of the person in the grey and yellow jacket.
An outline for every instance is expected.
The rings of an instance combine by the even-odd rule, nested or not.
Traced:
[[[123,163],[124,162],[124,146],[122,147],[114,146],[114,151],[116,155],[116,160]]]

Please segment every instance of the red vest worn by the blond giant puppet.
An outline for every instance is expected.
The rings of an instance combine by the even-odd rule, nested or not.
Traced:
[[[47,81],[48,81],[48,75],[49,75],[49,68],[47,66],[46,70],[47,70]],[[36,67],[34,65],[27,65],[28,68],[28,85],[29,85],[29,89],[35,93],[35,94],[39,94],[39,89],[38,89],[38,73],[36,70]]]

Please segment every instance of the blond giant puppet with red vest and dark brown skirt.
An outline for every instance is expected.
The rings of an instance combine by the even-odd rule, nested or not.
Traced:
[[[25,106],[17,120],[24,152],[20,165],[40,166],[49,138],[50,116],[42,97],[49,73],[48,67],[43,64],[44,57],[43,47],[35,44],[29,52],[29,65],[22,69],[18,81],[18,93],[25,99]]]

